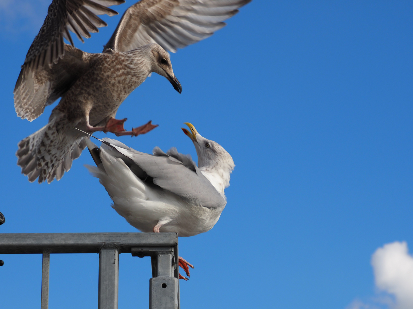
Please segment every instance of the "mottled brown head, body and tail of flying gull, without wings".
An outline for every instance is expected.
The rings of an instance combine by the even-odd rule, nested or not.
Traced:
[[[66,49],[69,54],[73,47],[66,45]],[[59,180],[86,145],[86,134],[74,128],[102,130],[149,73],[175,79],[169,55],[158,44],[147,44],[131,52],[83,54],[87,69],[81,67],[85,72],[53,109],[49,123],[19,143],[17,164],[30,181],[37,177],[39,183]]]

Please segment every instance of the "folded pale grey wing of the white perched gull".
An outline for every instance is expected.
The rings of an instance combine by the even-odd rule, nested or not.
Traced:
[[[153,183],[159,185],[162,189],[173,192],[187,201],[192,201],[204,207],[225,206],[225,198],[199,171],[190,157],[176,152],[176,149],[168,152],[173,155],[171,156],[165,154],[157,147],[154,149],[156,155],[149,155],[133,150],[119,142],[114,145],[112,141],[114,140],[104,138],[103,142],[111,143],[111,145],[102,144],[101,148],[109,150],[112,155],[115,155],[114,151],[112,151],[115,148],[118,152],[118,155],[115,156],[121,158],[139,178],[150,176],[153,178]],[[131,159],[133,163],[125,160],[122,155]],[[191,163],[185,162],[184,164],[179,158],[186,158],[187,161],[190,159]]]

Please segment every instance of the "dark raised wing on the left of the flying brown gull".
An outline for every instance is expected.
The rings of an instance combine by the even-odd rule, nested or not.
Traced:
[[[110,5],[118,5],[124,0],[53,0],[47,11],[46,19],[40,28],[38,35],[28,49],[26,59],[21,68],[19,78],[14,87],[14,106],[17,115],[23,119],[36,119],[43,112],[45,105],[53,103],[59,96],[56,95],[56,87],[66,84],[67,76],[65,70],[60,70],[56,64],[59,59],[67,63],[73,59],[70,55],[64,59],[68,48],[63,42],[65,37],[71,45],[73,40],[69,30],[83,42],[82,37],[90,37],[90,32],[99,32],[98,27],[107,26],[96,15],[107,14],[113,16],[118,14]],[[81,59],[78,49],[74,52],[75,57]],[[55,72],[47,72],[50,68]],[[78,67],[76,66],[75,70]],[[72,75],[69,73],[69,75]],[[74,75],[78,75],[76,72]],[[53,80],[55,77],[57,80]],[[58,91],[59,92],[59,91]],[[53,95],[52,95],[53,94]],[[50,97],[52,95],[52,97]]]

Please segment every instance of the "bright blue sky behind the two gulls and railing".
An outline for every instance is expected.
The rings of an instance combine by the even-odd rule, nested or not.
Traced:
[[[50,185],[29,183],[16,165],[17,143],[52,110],[22,120],[12,94],[49,4],[0,0],[0,232],[135,232],[83,167],[93,164],[87,152]],[[153,74],[124,101],[126,128],[160,125],[120,137],[127,145],[196,158],[180,130],[191,122],[236,164],[216,226],[179,239],[195,265],[180,283],[182,308],[407,308],[380,265],[394,256],[385,250],[413,268],[404,249],[413,247],[412,13],[410,1],[253,0],[171,55],[182,94]],[[103,16],[109,26],[76,47],[101,52],[120,16]],[[0,259],[2,307],[38,308],[41,256]],[[50,260],[50,308],[96,306],[98,256]],[[120,256],[120,309],[147,307],[149,278],[149,258]]]

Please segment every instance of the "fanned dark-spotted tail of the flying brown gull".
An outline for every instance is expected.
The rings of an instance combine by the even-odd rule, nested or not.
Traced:
[[[64,172],[71,168],[73,160],[85,149],[85,137],[59,131],[56,130],[55,120],[52,120],[18,144],[17,165],[30,182],[36,178],[39,183],[45,180],[51,183],[55,178],[60,180]]]

